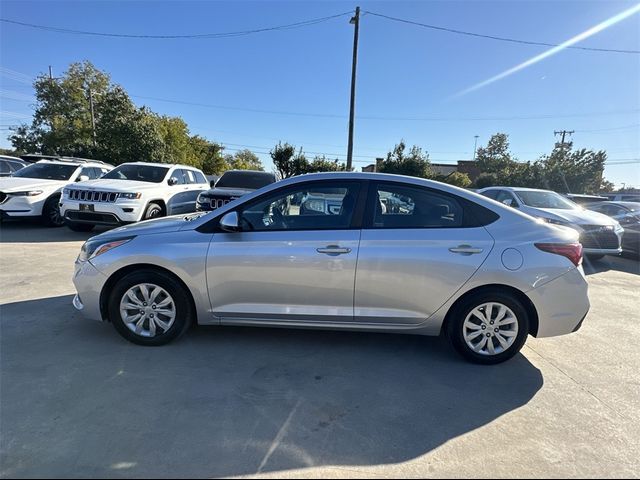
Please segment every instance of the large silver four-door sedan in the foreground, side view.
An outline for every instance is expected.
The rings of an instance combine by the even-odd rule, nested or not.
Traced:
[[[294,201],[310,194],[333,207]],[[574,230],[475,193],[324,173],[215,212],[92,237],[76,262],[73,303],[141,345],[165,344],[192,323],[445,332],[467,359],[493,364],[529,334],[580,328],[589,310],[581,261]]]

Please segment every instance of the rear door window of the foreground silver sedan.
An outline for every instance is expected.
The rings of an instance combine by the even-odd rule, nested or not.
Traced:
[[[373,228],[452,228],[463,226],[464,209],[455,197],[404,185],[380,185],[375,202]]]

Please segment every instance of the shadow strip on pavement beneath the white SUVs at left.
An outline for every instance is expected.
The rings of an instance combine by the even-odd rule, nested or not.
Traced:
[[[0,223],[0,243],[81,242],[104,231],[96,227],[91,232],[74,232],[67,227],[45,227],[34,220],[5,220]]]

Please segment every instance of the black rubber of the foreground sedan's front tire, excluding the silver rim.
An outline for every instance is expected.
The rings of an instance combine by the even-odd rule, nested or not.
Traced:
[[[172,297],[175,304],[174,323],[167,331],[154,337],[136,334],[127,327],[120,315],[120,301],[125,293],[130,288],[142,283],[151,283],[161,287]],[[137,345],[151,347],[166,345],[180,337],[189,328],[195,316],[191,297],[186,288],[170,274],[156,270],[140,270],[129,273],[120,279],[109,295],[108,315],[115,329],[125,339]],[[149,325],[148,320],[146,322],[146,325]]]

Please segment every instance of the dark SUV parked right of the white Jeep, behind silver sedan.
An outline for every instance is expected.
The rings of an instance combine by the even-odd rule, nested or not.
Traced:
[[[256,170],[229,170],[220,177],[215,186],[198,196],[196,209],[215,210],[247,193],[274,183],[276,176]]]

